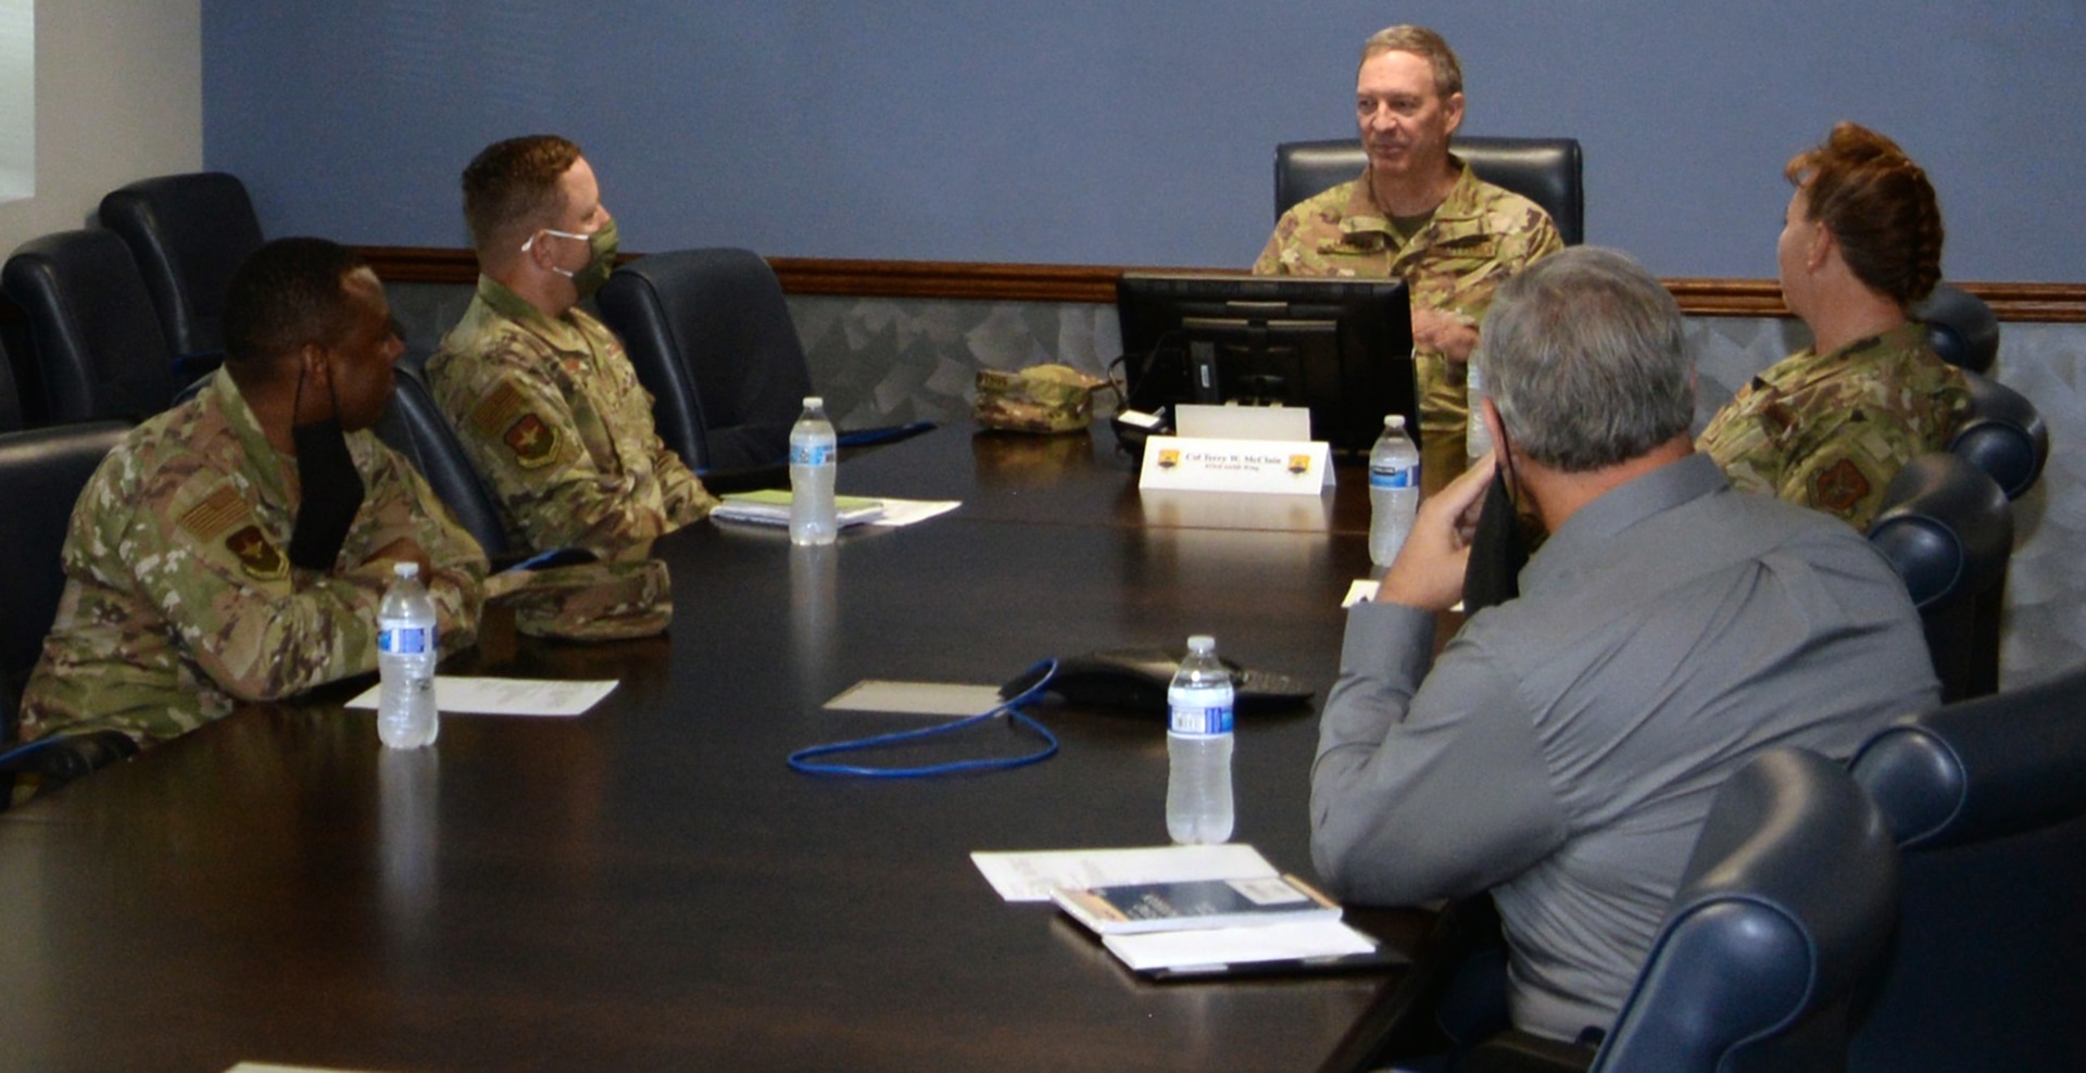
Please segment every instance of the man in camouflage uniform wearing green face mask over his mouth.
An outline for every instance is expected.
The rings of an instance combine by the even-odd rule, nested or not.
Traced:
[[[715,506],[653,429],[624,344],[578,308],[615,265],[615,219],[580,146],[488,146],[463,169],[478,296],[428,383],[522,550],[632,560]]]

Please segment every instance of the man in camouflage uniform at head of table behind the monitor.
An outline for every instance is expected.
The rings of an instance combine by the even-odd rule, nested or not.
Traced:
[[[1285,213],[1254,271],[1406,281],[1421,479],[1431,492],[1466,465],[1464,363],[1494,288],[1564,242],[1535,202],[1479,179],[1448,152],[1462,125],[1462,65],[1439,33],[1398,25],[1371,35],[1354,108],[1368,169]]]

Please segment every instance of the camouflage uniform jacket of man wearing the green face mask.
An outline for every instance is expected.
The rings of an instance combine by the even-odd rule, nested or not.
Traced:
[[[428,383],[515,548],[645,558],[653,538],[718,504],[659,440],[624,344],[580,308],[544,317],[480,275],[471,308],[428,360]]]

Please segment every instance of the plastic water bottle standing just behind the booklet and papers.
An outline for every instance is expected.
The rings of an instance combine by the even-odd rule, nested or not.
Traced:
[[[1231,671],[1216,640],[1187,640],[1187,658],[1166,690],[1166,833],[1174,842],[1231,840]]]

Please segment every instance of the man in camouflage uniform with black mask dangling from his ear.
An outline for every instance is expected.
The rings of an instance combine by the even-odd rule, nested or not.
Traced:
[[[417,563],[444,652],[469,646],[486,556],[367,429],[405,346],[375,273],[315,238],[232,277],[225,367],[88,481],[23,738],[165,742],[240,700],[375,671],[392,565]]]

